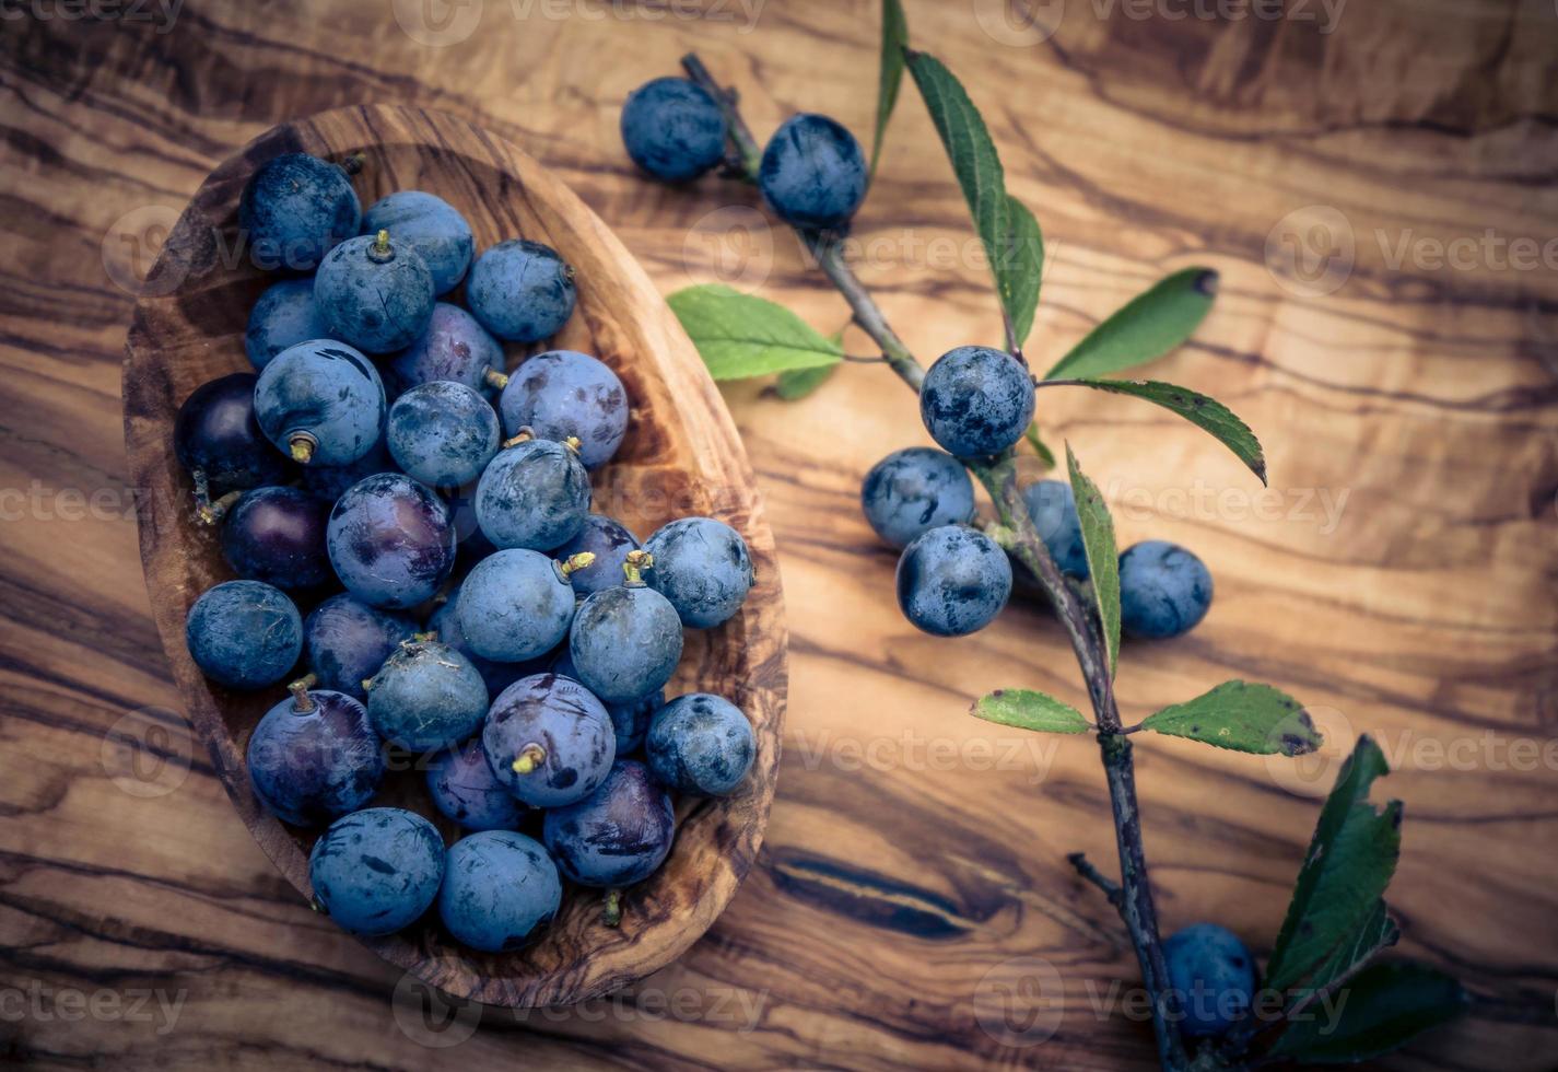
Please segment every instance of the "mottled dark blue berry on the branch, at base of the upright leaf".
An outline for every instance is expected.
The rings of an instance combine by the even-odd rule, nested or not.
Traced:
[[[925,372],[919,416],[930,438],[960,458],[1000,453],[1033,421],[1033,377],[1005,351],[958,346]]]

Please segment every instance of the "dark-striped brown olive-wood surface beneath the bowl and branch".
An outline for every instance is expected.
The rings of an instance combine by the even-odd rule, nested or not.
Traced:
[[[707,17],[686,17],[698,9]],[[963,714],[994,686],[1081,703],[1058,628],[1014,608],[975,637],[933,640],[893,606],[894,559],[855,494],[872,461],[925,436],[882,368],[846,366],[796,405],[757,385],[724,393],[791,629],[779,793],[729,910],[628,997],[489,1011],[474,1031],[474,1010],[456,1010],[435,1031],[399,972],[304,907],[176,714],[126,499],[118,361],[134,299],[120,284],[145,271],[206,173],[288,117],[436,108],[556,170],[664,293],[723,277],[834,330],[843,305],[795,242],[740,234],[760,218],[749,190],[648,185],[619,145],[622,98],[675,73],[687,48],[740,86],[760,137],[804,109],[869,132],[874,3],[771,0],[749,26],[743,11],[489,0],[474,33],[435,45],[388,3],[344,0],[192,0],[165,34],[33,14],[0,25],[0,1030],[12,1058],[1148,1067],[1144,1025],[1098,1011],[1117,1005],[1111,983],[1136,979],[1131,952],[1063,859],[1112,855],[1095,746]],[[1192,637],[1126,647],[1126,717],[1237,675],[1295,692],[1334,740],[1332,760],[1301,767],[1144,742],[1165,926],[1218,919],[1268,949],[1334,756],[1374,732],[1399,768],[1380,788],[1405,801],[1391,891],[1402,952],[1477,996],[1466,1021],[1391,1066],[1552,1067],[1558,273],[1479,249],[1436,263],[1424,243],[1558,235],[1553,6],[1369,0],[1329,34],[1296,19],[1094,11],[1067,3],[1033,42],[982,0],[908,3],[916,44],[964,78],[1010,187],[1045,226],[1038,363],[1164,271],[1209,263],[1223,277],[1197,343],[1153,372],[1217,394],[1262,435],[1274,497],[1256,499],[1221,447],[1156,410],[1069,393],[1041,407],[1052,441],[1069,439],[1103,488],[1122,542],[1181,541],[1215,575]],[[1313,206],[1334,213],[1282,224]],[[732,221],[715,262],[706,237]],[[1334,293],[1268,270],[1268,240],[1281,265],[1285,235],[1323,246],[1327,227],[1354,237]],[[911,87],[857,237],[862,274],[919,354],[999,341]],[[849,346],[863,343],[851,333]],[[1035,1033],[1055,1030],[1020,1046],[1031,1007]]]

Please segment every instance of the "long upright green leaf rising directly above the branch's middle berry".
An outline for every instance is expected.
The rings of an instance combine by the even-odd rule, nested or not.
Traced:
[[[985,245],[1011,346],[1020,347],[1033,327],[1044,274],[1039,223],[1006,193],[996,143],[963,84],[935,56],[907,50],[905,56]]]

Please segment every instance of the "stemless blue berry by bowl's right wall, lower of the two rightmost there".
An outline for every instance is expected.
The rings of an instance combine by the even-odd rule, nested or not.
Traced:
[[[693,692],[654,712],[643,754],[656,781],[678,793],[729,796],[751,770],[757,740],[740,707]]]

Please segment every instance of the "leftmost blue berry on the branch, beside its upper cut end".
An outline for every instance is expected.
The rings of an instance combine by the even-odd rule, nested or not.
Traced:
[[[640,168],[665,182],[695,179],[724,157],[724,115],[696,83],[656,78],[622,106],[622,143]]]

